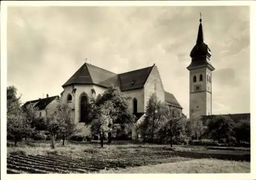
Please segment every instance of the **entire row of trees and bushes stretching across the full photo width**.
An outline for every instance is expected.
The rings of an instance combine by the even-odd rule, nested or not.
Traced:
[[[98,137],[103,147],[103,140],[111,143],[116,133],[124,139],[132,136],[132,128],[136,124],[137,138],[144,142],[161,144],[194,144],[218,145],[225,143],[232,146],[249,145],[250,120],[235,123],[227,116],[214,116],[202,121],[202,118],[183,117],[177,108],[160,102],[153,94],[147,102],[144,120],[136,123],[136,117],[129,111],[131,98],[124,96],[115,86],[109,87],[102,95],[98,95],[88,104],[85,125],[91,125],[91,137],[79,135],[80,129],[71,117],[72,109],[67,105],[59,105],[54,113],[45,119],[37,118],[37,110],[31,105],[26,108],[20,104],[17,89],[7,87],[7,138],[14,140],[15,145],[22,139],[51,140],[54,148],[56,139],[91,140]],[[48,134],[42,134],[45,130]]]

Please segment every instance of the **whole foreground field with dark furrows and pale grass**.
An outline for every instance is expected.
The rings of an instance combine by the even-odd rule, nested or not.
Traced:
[[[14,147],[13,142],[8,142],[7,156],[8,170],[13,173],[18,170],[15,160],[23,162],[24,165],[20,168],[31,173],[79,173],[87,172],[90,168],[96,168],[95,171],[99,173],[243,173],[250,171],[248,149],[227,150],[178,145],[171,148],[169,145],[127,141],[114,141],[112,144],[104,144],[103,148],[100,148],[99,143],[67,141],[65,146],[62,146],[62,142],[57,142],[55,149],[51,148],[50,141],[18,142],[17,147]],[[40,161],[39,156],[45,161]],[[55,170],[49,169],[54,166],[54,163],[51,164],[52,159],[59,161]],[[81,168],[69,170],[66,167],[69,163],[70,166]],[[38,169],[41,166],[42,168]],[[105,166],[107,168],[104,170]]]

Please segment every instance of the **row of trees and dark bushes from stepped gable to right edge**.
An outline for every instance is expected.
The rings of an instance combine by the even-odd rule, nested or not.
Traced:
[[[137,126],[139,139],[161,144],[250,145],[250,120],[235,123],[227,116],[186,119],[176,108],[160,102],[153,94],[147,102],[144,121]]]

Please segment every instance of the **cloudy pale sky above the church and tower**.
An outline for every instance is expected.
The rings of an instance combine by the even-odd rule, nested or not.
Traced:
[[[246,6],[8,7],[7,85],[25,103],[60,95],[87,62],[114,73],[156,64],[164,90],[189,114],[189,65],[200,12],[211,50],[212,114],[250,113]]]

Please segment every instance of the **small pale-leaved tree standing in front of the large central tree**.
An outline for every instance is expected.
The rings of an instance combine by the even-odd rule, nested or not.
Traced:
[[[115,114],[116,109],[112,101],[105,101],[99,106],[93,106],[94,119],[91,130],[94,134],[100,135],[100,145],[103,147],[103,138],[106,132],[112,131],[113,119],[111,114]]]

